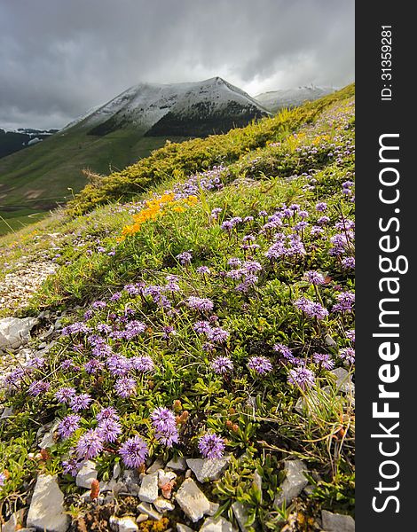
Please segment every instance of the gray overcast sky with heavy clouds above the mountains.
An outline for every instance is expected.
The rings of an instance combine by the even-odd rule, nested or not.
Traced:
[[[354,81],[354,0],[0,0],[0,127],[216,75],[251,96]]]

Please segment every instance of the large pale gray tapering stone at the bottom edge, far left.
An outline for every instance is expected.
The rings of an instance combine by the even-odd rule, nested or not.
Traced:
[[[70,523],[64,513],[64,495],[59,489],[57,475],[40,474],[30,503],[27,526],[48,532],[66,532]]]

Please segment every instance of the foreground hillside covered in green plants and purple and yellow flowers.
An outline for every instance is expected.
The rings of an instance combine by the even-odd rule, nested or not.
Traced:
[[[0,300],[22,261],[57,266],[29,301],[0,310],[39,317],[32,345],[43,346],[0,391],[12,408],[0,425],[4,519],[28,508],[43,473],[57,475],[72,530],[137,520],[144,506],[124,475],[150,475],[156,458],[165,472],[186,458],[189,473],[160,482],[173,507],[139,518],[141,532],[201,529],[213,506],[194,519],[181,504],[190,485],[224,529],[313,531],[322,510],[354,516],[354,113],[352,85],[165,145],[0,239]],[[76,484],[84,458],[98,497]],[[195,458],[225,462],[207,481]],[[115,466],[122,487],[105,491]]]

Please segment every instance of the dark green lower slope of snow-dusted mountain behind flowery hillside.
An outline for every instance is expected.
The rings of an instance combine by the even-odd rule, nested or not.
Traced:
[[[86,135],[77,127],[59,132],[0,159],[0,215],[13,218],[24,215],[22,209],[33,213],[55,207],[71,197],[68,187],[74,192],[83,188],[83,168],[98,174],[124,168],[164,145],[165,140],[143,137],[143,132],[135,129],[120,129],[105,137]]]

